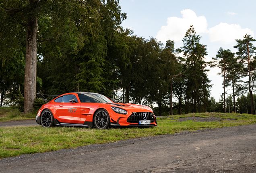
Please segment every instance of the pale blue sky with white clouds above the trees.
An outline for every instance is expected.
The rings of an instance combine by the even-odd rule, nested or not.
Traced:
[[[173,40],[175,48],[183,46],[182,38],[193,25],[196,34],[202,36],[200,43],[206,45],[206,61],[216,57],[219,48],[237,52],[233,48],[235,39],[243,39],[245,34],[256,37],[255,0],[120,0],[120,6],[127,14],[122,22],[124,28],[163,44]],[[219,68],[209,69],[211,96],[219,101],[223,78],[217,75]],[[231,94],[229,88],[226,91]]]

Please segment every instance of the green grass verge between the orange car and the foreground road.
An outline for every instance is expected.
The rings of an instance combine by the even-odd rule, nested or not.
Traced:
[[[220,117],[222,121],[172,121],[186,117]],[[225,119],[234,119],[227,121]],[[124,139],[174,134],[205,128],[221,128],[256,123],[256,115],[235,113],[202,113],[157,118],[157,127],[113,128],[97,130],[79,127],[2,127],[0,128],[0,158],[21,154],[43,153],[59,149],[75,148],[90,144],[116,142]]]

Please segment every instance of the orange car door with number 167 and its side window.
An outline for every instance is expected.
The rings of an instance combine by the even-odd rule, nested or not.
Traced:
[[[75,99],[76,103],[70,103],[70,99]],[[60,103],[55,103],[58,120],[63,123],[79,123],[81,120],[80,105],[75,95],[64,95]]]

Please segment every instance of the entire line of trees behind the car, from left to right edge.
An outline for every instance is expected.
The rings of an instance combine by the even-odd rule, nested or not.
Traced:
[[[0,2],[0,10],[1,106],[30,113],[35,93],[95,92],[117,102],[157,105],[156,115],[226,112],[231,95],[226,101],[225,88],[231,86],[233,99],[249,91],[253,102],[247,109],[255,111],[255,48],[248,35],[237,40],[237,56],[220,48],[206,62],[206,45],[193,26],[177,49],[172,40],[163,45],[136,36],[120,26],[126,14],[119,0],[13,0]],[[210,98],[207,66],[221,68],[223,101]],[[232,111],[244,111],[244,97]]]

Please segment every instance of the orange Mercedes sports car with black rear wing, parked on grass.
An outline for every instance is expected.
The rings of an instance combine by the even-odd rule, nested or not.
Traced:
[[[37,94],[44,101],[53,95]],[[56,97],[56,96],[55,96]],[[106,129],[109,126],[157,126],[150,107],[129,103],[114,103],[97,93],[66,93],[39,109],[36,121],[43,127],[80,126]]]

